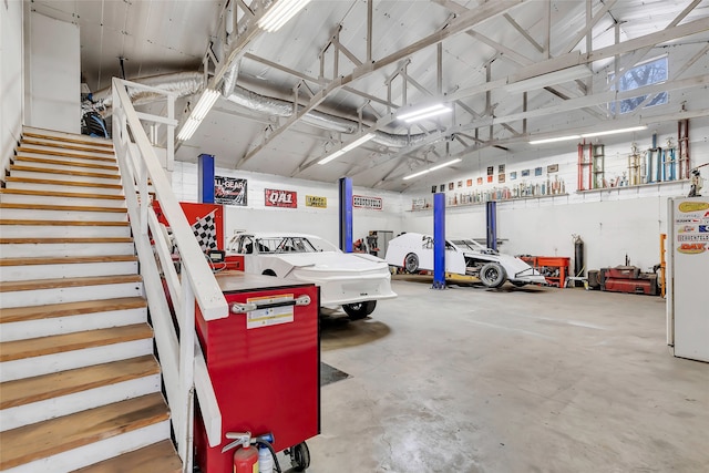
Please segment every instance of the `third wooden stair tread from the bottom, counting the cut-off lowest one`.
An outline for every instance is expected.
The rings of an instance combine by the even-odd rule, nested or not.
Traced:
[[[31,404],[61,395],[160,373],[152,354],[3,382],[0,409]]]

